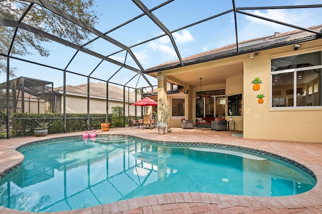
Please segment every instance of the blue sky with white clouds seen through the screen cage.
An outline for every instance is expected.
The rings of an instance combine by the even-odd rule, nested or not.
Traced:
[[[162,4],[164,1],[159,0],[142,0],[142,3],[149,9]],[[284,6],[284,5],[312,5],[322,4],[322,0],[303,0],[303,1],[249,1],[249,0],[235,0],[237,7],[257,7],[257,6]],[[142,11],[135,6],[130,0],[119,1],[106,1],[96,0],[96,7],[94,9],[100,14],[99,24],[95,26],[102,33],[121,25],[122,23],[130,20],[140,14]],[[164,6],[161,9],[153,11],[156,16],[169,31],[174,31],[181,27],[185,27],[191,23],[198,22],[199,20],[206,19],[216,14],[223,13],[232,9],[231,1],[192,1],[192,0],[175,0],[174,2]],[[322,24],[320,17],[322,9],[292,9],[292,10],[253,10],[247,11],[248,13],[256,14],[270,19],[275,19],[281,22],[289,23],[300,27],[311,27]],[[295,30],[293,28],[285,27],[282,25],[274,24],[264,20],[251,18],[249,16],[237,15],[237,30],[238,41],[244,41],[263,36],[273,35],[274,32],[287,32]],[[146,41],[164,32],[158,28],[146,16],[109,33],[108,36],[119,41],[125,46],[132,46],[134,44]],[[95,38],[92,35],[91,38]],[[220,48],[236,42],[234,32],[234,17],[233,13],[229,13],[215,19],[209,20],[204,23],[189,27],[184,30],[173,33],[181,57],[188,57],[194,54],[202,53],[208,50]],[[66,48],[63,45],[56,43],[43,44],[44,47],[51,50],[51,55],[48,58],[39,57],[37,53],[33,56],[23,57],[24,59],[34,62],[47,64],[53,67],[64,69],[75,51]],[[86,46],[92,51],[98,52],[104,56],[110,55],[120,50],[119,47],[98,39],[94,43]],[[150,41],[143,45],[131,49],[135,57],[141,63],[144,69],[167,63],[170,61],[178,60],[178,56],[168,36]],[[32,51],[32,50],[31,50]],[[110,57],[111,59],[119,62],[126,62],[126,64],[139,68],[129,55],[121,52]],[[126,59],[126,61],[125,61]],[[68,71],[89,75],[100,62],[88,54],[78,53],[75,59],[67,67]],[[54,87],[62,86],[63,74],[61,71],[31,65],[17,60],[11,60],[11,66],[18,67],[16,76],[25,76],[35,79],[46,81],[53,81]],[[98,79],[107,80],[116,71],[120,69],[119,66],[103,62],[92,74],[93,77]],[[132,77],[136,75],[135,72],[121,69],[112,79],[112,82],[125,84]],[[5,82],[6,77],[0,76],[1,82]],[[156,80],[149,78],[152,85],[156,84]],[[99,82],[98,80],[91,79],[91,82]],[[87,83],[87,78],[67,74],[66,84],[78,85]],[[129,84],[131,87],[147,86],[143,78],[134,78]]]

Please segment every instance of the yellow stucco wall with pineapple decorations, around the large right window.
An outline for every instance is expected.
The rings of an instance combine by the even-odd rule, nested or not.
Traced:
[[[322,142],[322,108],[271,108],[271,58],[321,51],[321,41],[301,43],[294,52],[293,45],[260,52],[254,59],[244,61],[244,137],[303,142]],[[252,90],[252,80],[260,77],[259,91]],[[256,96],[264,94],[264,103]]]

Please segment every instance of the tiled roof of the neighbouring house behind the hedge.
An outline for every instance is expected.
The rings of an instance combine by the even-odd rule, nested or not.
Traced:
[[[58,93],[63,92],[63,86],[54,88],[54,91]],[[71,86],[66,85],[66,93],[74,94],[74,95],[83,95],[87,96],[87,83]],[[129,97],[128,97],[129,94]],[[90,96],[92,97],[101,97],[106,98],[106,84],[105,83],[90,83]],[[129,101],[131,103],[135,102],[135,93],[129,92],[125,90],[125,101]],[[140,99],[140,96],[137,96],[137,99]],[[122,101],[123,102],[123,88],[119,88],[113,85],[109,85],[109,100]]]

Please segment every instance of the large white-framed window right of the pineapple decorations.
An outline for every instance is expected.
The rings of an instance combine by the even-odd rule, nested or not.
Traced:
[[[321,52],[272,59],[272,107],[322,106],[321,61]]]

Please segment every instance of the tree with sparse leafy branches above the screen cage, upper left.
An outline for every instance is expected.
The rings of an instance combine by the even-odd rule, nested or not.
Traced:
[[[93,26],[97,23],[98,16],[92,7],[94,0],[46,0],[54,7],[66,12],[78,20]],[[31,3],[17,0],[0,1],[1,18],[9,20],[20,20]],[[13,10],[13,8],[15,10]],[[53,14],[40,5],[34,4],[22,20],[32,27],[65,39],[77,45],[81,45],[90,36],[90,32],[69,22],[68,20]],[[0,53],[8,54],[16,28],[0,26]],[[40,56],[48,57],[50,51],[42,47],[43,42],[49,39],[35,35],[31,32],[18,29],[10,55],[26,56],[33,53],[29,48],[38,52]],[[6,72],[7,59],[0,57],[0,74]],[[10,73],[14,76],[16,68],[11,68]]]

